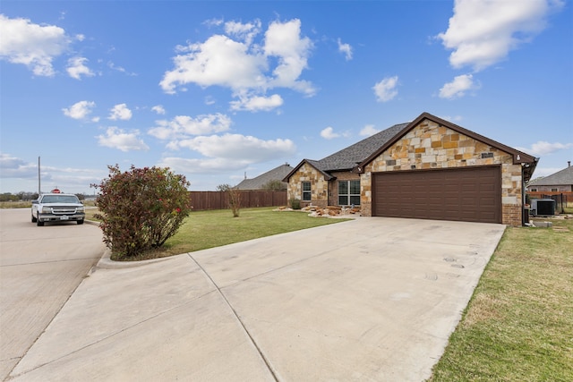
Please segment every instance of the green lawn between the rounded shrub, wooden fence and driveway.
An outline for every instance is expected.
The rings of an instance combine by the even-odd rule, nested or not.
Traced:
[[[95,211],[90,211],[93,213]],[[161,249],[142,253],[136,258],[121,259],[112,255],[111,259],[156,259],[345,220],[310,217],[304,212],[278,212],[273,208],[244,208],[240,210],[239,217],[233,217],[229,209],[194,211]]]

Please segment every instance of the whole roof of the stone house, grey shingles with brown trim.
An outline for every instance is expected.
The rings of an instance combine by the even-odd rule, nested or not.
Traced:
[[[360,173],[363,171],[364,166],[368,165],[376,157],[379,157],[381,153],[386,149],[389,149],[390,146],[406,135],[406,132],[414,129],[415,126],[421,123],[424,119],[429,119],[435,123],[439,123],[455,132],[459,132],[460,134],[464,134],[470,138],[486,143],[493,148],[500,149],[511,154],[513,156],[514,165],[521,164],[524,167],[525,182],[531,178],[531,175],[535,170],[535,166],[537,166],[538,158],[536,157],[532,157],[517,149],[510,148],[509,146],[503,145],[495,140],[483,137],[483,135],[471,132],[435,115],[423,113],[411,123],[395,124],[382,132],[378,132],[365,140],[361,140],[354,145],[347,147],[346,149],[341,149],[329,157],[324,157],[321,160],[304,159],[293,171],[286,175],[283,181],[288,182],[288,178],[295,174],[295,172],[303,166],[304,163],[308,163],[321,171],[321,173],[325,175],[326,180],[331,179],[332,176],[329,173],[335,171],[354,170],[355,172]]]

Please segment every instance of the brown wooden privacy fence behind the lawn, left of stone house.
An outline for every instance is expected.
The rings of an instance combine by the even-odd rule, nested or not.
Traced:
[[[241,190],[241,208],[286,206],[286,191]],[[194,211],[229,208],[225,191],[189,191]]]

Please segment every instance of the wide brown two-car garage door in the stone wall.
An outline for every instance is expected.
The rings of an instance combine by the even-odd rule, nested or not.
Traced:
[[[501,223],[500,167],[375,173],[372,216]]]

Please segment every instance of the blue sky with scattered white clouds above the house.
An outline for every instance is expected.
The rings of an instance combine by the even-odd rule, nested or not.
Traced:
[[[423,112],[573,160],[559,0],[12,1],[0,8],[0,191],[93,193],[107,166],[192,190],[321,159]]]

